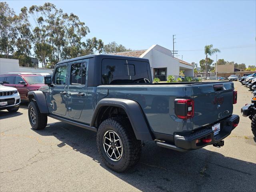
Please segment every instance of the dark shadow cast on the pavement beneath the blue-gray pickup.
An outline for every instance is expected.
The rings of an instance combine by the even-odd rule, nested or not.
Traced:
[[[116,173],[100,159],[96,133],[63,122],[34,130],[42,136],[55,136],[58,147],[71,146],[90,156],[100,166],[142,191],[255,191],[256,164],[223,156],[206,149],[176,152],[146,142],[140,162],[134,168]],[[224,146],[225,147],[225,146]],[[239,153],[239,152],[238,152]],[[96,173],[97,174],[97,173]]]

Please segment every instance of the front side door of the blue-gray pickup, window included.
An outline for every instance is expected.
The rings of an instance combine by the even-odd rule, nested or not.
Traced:
[[[49,110],[52,113],[66,115],[67,106],[66,106],[66,94],[67,94],[67,64],[61,64],[55,70],[53,76],[53,85],[50,88],[50,98],[51,106]]]

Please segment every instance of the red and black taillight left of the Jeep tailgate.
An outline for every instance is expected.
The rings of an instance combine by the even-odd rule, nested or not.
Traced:
[[[189,119],[194,117],[194,100],[192,99],[175,99],[174,110],[178,118]]]

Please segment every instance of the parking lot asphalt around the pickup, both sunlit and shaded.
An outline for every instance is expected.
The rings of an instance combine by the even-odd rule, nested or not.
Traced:
[[[0,191],[256,191],[256,139],[240,108],[252,94],[234,82],[239,125],[222,148],[176,152],[146,142],[140,162],[116,173],[100,159],[96,133],[48,118],[32,130],[28,110],[0,112]]]

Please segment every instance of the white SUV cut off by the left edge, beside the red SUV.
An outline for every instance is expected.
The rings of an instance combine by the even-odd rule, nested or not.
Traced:
[[[16,112],[20,107],[20,94],[16,88],[0,84],[0,110]]]

